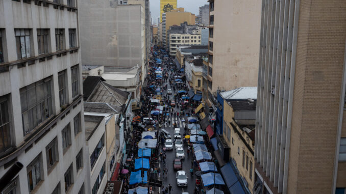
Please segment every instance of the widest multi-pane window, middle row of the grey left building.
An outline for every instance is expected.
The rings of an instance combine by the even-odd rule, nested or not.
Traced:
[[[46,78],[20,89],[24,135],[53,114],[51,81]]]

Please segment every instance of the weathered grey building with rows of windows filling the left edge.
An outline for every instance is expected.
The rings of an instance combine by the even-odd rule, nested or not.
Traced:
[[[0,3],[0,177],[23,164],[4,193],[90,193],[80,12],[59,2]]]

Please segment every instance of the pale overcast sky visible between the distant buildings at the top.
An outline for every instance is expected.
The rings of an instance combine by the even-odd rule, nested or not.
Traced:
[[[182,7],[186,12],[198,15],[198,9],[205,4],[207,0],[178,0],[178,8]],[[150,11],[152,12],[153,23],[157,23],[157,17],[160,17],[160,0],[150,0]]]

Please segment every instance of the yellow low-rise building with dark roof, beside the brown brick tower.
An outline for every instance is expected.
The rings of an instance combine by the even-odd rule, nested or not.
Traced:
[[[244,186],[253,192],[255,180],[256,100],[224,100],[224,138]]]

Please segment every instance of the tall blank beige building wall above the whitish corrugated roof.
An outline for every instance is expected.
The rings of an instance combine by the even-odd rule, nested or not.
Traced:
[[[213,74],[217,75],[213,77],[213,93],[218,89],[257,86],[261,3],[215,1],[214,36],[210,40],[213,50],[209,50],[213,56]]]

